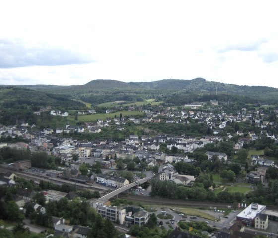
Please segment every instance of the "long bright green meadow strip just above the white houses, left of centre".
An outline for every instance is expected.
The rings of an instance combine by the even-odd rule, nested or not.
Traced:
[[[138,111],[120,111],[120,112],[115,112],[115,113],[98,113],[98,114],[92,114],[92,115],[78,115],[78,121],[82,121],[82,122],[93,122],[93,121],[97,121],[97,120],[106,120],[106,118],[111,117],[114,118],[115,115],[117,117],[120,116],[120,114],[122,113],[122,116],[142,116],[145,113],[144,112],[138,112]],[[67,117],[67,119],[70,121],[75,121],[75,117]]]

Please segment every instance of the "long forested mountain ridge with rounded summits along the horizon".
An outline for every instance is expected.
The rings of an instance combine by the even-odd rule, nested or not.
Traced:
[[[148,98],[169,98],[180,93],[218,94],[249,97],[257,101],[278,102],[278,89],[265,86],[239,86],[207,81],[203,78],[192,80],[164,79],[153,82],[122,82],[117,80],[92,80],[84,85],[17,86],[28,89],[64,95],[97,105],[108,101],[134,101]],[[173,95],[174,93],[175,95]]]

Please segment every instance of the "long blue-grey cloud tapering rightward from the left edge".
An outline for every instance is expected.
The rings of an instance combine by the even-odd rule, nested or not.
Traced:
[[[21,40],[0,39],[0,68],[72,65],[91,62],[94,62],[91,56],[69,49],[48,45],[28,47]]]

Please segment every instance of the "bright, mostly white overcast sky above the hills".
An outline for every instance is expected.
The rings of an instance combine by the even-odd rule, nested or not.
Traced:
[[[7,0],[0,85],[111,79],[278,88],[277,0]]]

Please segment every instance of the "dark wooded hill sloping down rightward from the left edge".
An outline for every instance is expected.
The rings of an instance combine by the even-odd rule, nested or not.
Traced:
[[[32,107],[33,110],[38,110],[40,107],[49,105],[68,110],[86,108],[85,104],[58,94],[13,86],[0,87],[0,108],[22,109]]]

